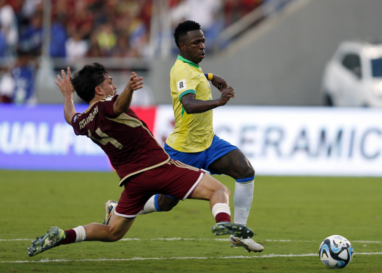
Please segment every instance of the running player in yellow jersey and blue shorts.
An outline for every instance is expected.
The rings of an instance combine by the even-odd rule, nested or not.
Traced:
[[[179,48],[178,58],[170,72],[175,128],[166,140],[165,151],[171,159],[207,170],[211,174],[225,174],[234,178],[234,222],[245,226],[253,199],[255,171],[243,152],[217,137],[212,127],[212,109],[225,105],[235,97],[235,92],[222,77],[203,74],[199,63],[205,57],[205,39],[197,22],[178,24],[174,38]],[[212,99],[209,81],[220,90],[220,98]],[[168,211],[178,201],[171,196],[156,194],[139,214]],[[113,205],[107,203],[106,210],[112,213]],[[264,249],[251,238],[235,236],[230,237],[230,245],[244,247],[249,252],[261,252]]]

